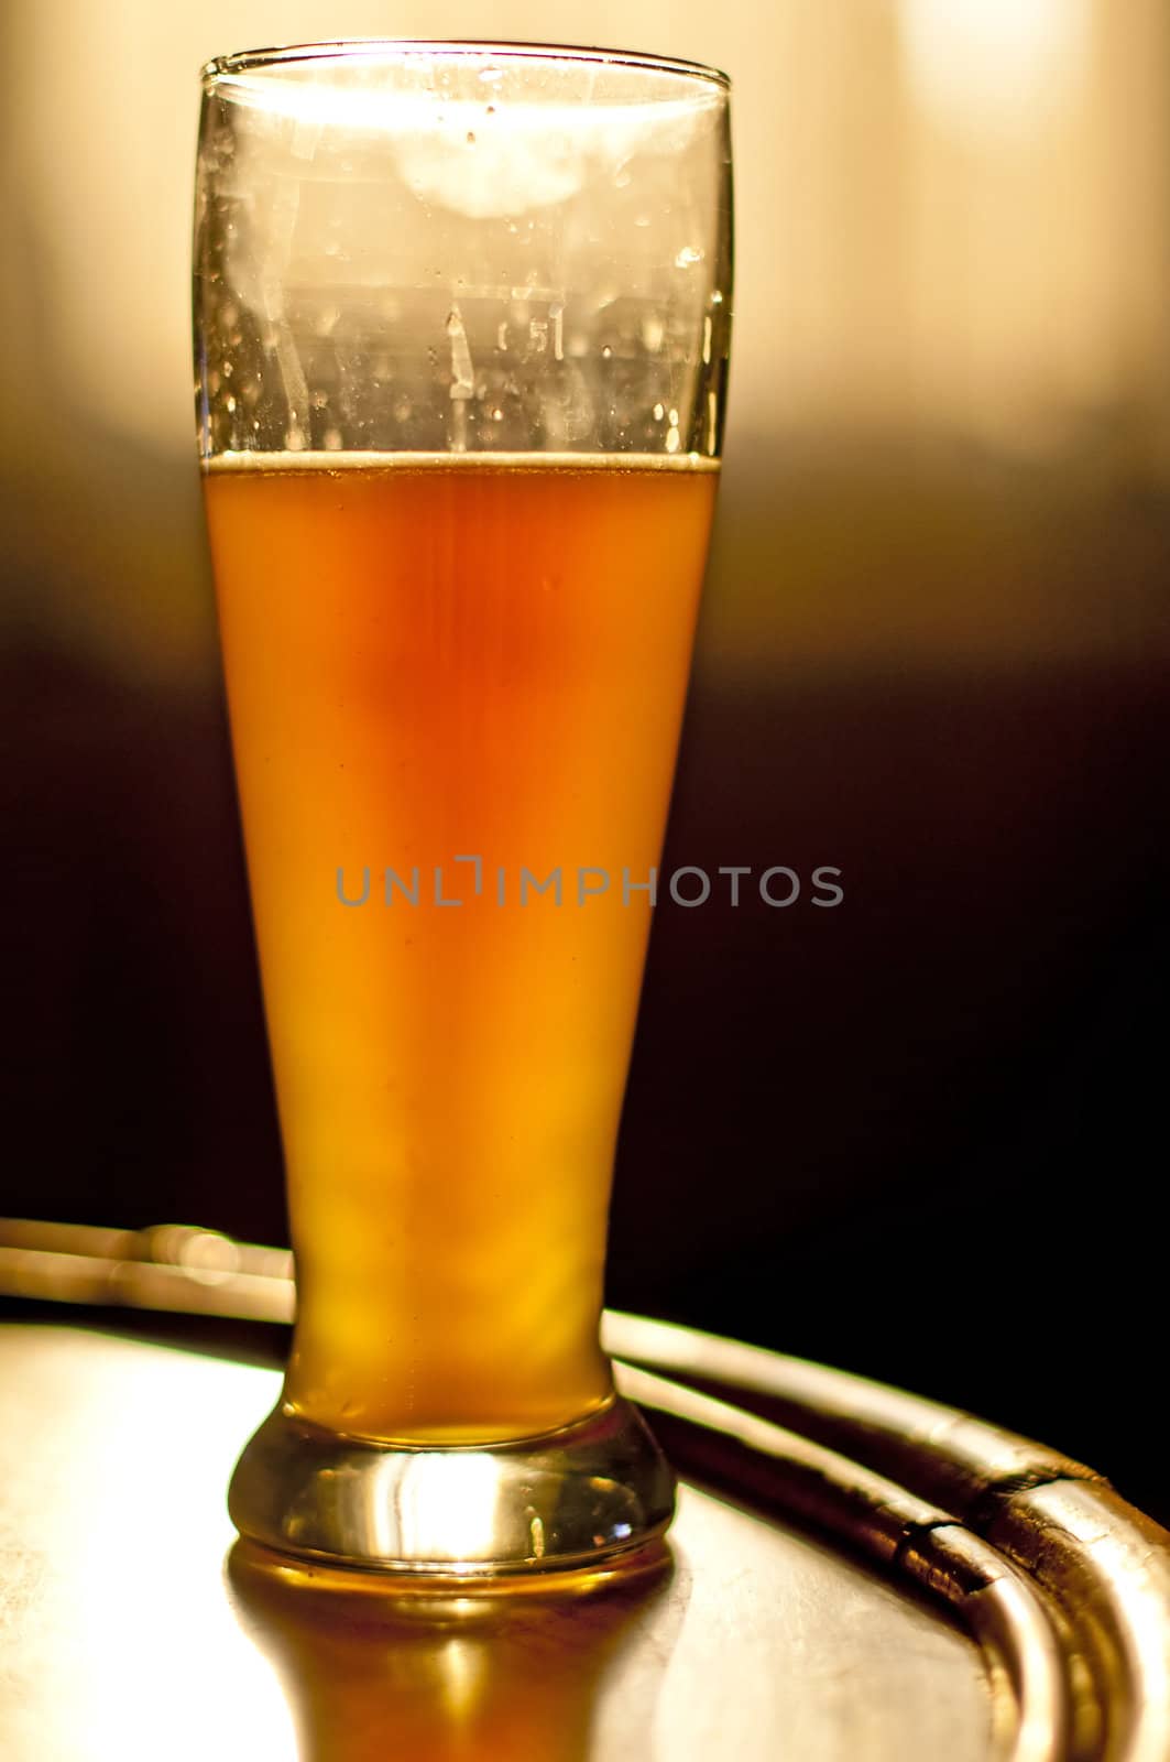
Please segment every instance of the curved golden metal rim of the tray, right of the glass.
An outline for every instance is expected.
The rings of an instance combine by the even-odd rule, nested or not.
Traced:
[[[654,1367],[626,1373],[627,1394],[770,1457],[777,1505],[876,1558],[893,1545],[886,1565],[953,1603],[976,1637],[980,1591],[955,1575],[953,1545],[939,1558],[941,1540],[966,1538],[962,1549],[974,1542],[1001,1563],[994,1644],[1020,1706],[1011,1762],[1170,1762],[1170,1535],[1101,1475],[957,1408],[694,1329],[606,1311],[603,1341]],[[661,1371],[763,1397],[793,1429],[721,1401],[707,1411],[710,1397],[689,1387],[678,1399]],[[937,1501],[925,1529],[907,1499]],[[1036,1618],[1063,1660],[1064,1723],[1047,1750],[1054,1700]]]

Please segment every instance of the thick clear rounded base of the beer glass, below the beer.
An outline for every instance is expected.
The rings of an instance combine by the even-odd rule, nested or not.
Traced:
[[[241,1535],[301,1559],[490,1579],[643,1547],[673,1517],[675,1477],[620,1396],[539,1438],[449,1447],[347,1438],[277,1408],[227,1508]]]

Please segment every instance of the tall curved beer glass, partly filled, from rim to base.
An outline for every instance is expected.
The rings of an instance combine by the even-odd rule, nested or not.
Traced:
[[[597,1327],[729,294],[710,69],[204,70],[199,442],[298,1269],[231,1487],[270,1545],[492,1575],[670,1521]]]

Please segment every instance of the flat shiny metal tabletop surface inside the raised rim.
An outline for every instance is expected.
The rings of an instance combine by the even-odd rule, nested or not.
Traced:
[[[832,1545],[684,1485],[592,1595],[287,1586],[224,1489],[273,1371],[0,1327],[5,1762],[978,1762],[985,1653]],[[231,1558],[229,1558],[231,1556]]]

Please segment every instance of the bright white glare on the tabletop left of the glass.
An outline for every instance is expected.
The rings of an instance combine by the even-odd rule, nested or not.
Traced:
[[[257,1380],[0,1329],[5,1762],[296,1762],[271,1669],[222,1616],[220,1487]]]

